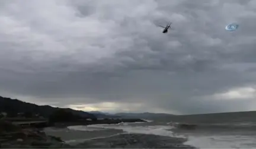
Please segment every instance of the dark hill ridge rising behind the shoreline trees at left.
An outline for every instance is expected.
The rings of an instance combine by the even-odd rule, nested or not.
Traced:
[[[48,118],[57,109],[65,109],[67,112],[72,112],[72,114],[79,115],[84,118],[96,118],[94,114],[89,114],[88,112],[84,111],[76,111],[70,108],[55,108],[49,105],[39,106],[34,103],[23,102],[17,99],[4,98],[0,96],[0,112],[7,112],[8,115],[16,115],[20,112],[31,112]]]

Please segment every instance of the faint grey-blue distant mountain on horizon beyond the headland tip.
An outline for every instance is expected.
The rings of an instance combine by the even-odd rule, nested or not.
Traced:
[[[121,116],[121,118],[143,118],[143,119],[173,116],[172,114],[156,114],[156,113],[149,113],[149,112],[145,112],[145,113],[117,113],[115,115]]]

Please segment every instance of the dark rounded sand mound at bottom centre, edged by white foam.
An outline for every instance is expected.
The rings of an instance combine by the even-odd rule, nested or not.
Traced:
[[[149,134],[120,134],[113,137],[98,138],[76,145],[87,149],[195,149],[184,145],[184,138],[163,137]]]

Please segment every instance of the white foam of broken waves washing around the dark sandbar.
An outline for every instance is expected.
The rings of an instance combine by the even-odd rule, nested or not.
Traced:
[[[155,126],[136,126],[127,123],[120,124],[100,124],[73,127],[83,131],[100,130],[100,129],[120,129],[127,133],[136,134],[155,134],[168,137],[185,137],[185,135],[175,135],[170,129],[171,125],[155,125]],[[256,149],[256,137],[242,135],[194,135],[190,134],[188,141],[184,144],[191,145],[200,149]],[[85,140],[81,140],[85,141]],[[72,141],[70,141],[72,142]],[[76,140],[75,142],[80,142]]]

